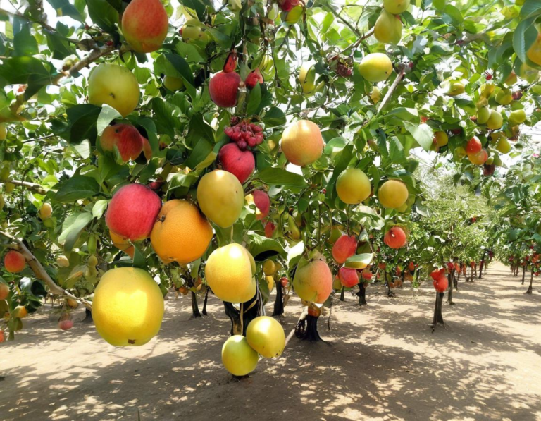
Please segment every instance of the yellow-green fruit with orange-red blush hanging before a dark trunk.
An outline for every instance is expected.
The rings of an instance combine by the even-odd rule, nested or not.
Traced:
[[[332,274],[328,264],[313,260],[297,269],[293,288],[299,298],[310,303],[323,304],[332,291]]]

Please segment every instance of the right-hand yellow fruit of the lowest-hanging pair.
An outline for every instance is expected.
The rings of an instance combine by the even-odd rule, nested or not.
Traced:
[[[279,357],[285,348],[284,328],[273,317],[256,317],[246,329],[246,340],[261,356]]]

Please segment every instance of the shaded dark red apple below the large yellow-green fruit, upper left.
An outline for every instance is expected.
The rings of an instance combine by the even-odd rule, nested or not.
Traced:
[[[101,149],[112,152],[118,147],[120,157],[124,162],[135,160],[143,150],[143,137],[139,130],[129,124],[115,124],[107,126],[99,140]],[[145,139],[146,140],[146,139]],[[147,140],[148,142],[148,140]]]

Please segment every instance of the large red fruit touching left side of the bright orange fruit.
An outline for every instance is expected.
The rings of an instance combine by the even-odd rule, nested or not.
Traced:
[[[161,209],[161,199],[142,184],[128,184],[118,189],[105,216],[107,227],[118,236],[132,241],[148,238]]]

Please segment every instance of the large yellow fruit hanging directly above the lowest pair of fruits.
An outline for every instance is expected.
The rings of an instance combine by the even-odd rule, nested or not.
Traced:
[[[240,244],[214,250],[206,261],[205,278],[212,292],[228,303],[246,303],[256,295],[255,268]]]

